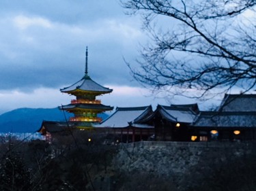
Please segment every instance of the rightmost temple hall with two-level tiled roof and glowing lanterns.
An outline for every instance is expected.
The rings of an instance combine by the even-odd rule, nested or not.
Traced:
[[[225,94],[217,111],[198,114],[190,124],[190,135],[193,141],[255,140],[256,94]]]

